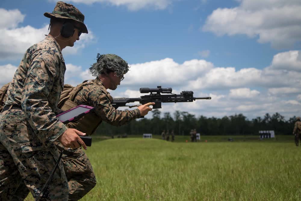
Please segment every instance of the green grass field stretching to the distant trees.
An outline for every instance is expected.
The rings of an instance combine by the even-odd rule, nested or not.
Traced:
[[[228,137],[95,136],[86,153],[98,183],[81,200],[301,200],[301,147],[293,136]]]

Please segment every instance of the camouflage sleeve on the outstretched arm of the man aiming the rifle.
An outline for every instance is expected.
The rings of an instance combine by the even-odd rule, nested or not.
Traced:
[[[140,117],[139,109],[129,111],[116,110],[106,94],[97,87],[88,91],[85,95],[88,104],[95,108],[96,115],[113,126],[122,126]]]

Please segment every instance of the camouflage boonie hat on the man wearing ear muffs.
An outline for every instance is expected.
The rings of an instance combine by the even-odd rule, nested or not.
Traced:
[[[72,4],[57,2],[52,13],[46,12],[44,16],[74,20],[80,24],[79,27],[82,29],[82,33],[88,33],[87,27],[84,24],[85,16]]]

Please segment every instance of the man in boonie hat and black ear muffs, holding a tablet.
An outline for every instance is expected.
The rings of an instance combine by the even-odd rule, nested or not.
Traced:
[[[54,114],[66,70],[61,49],[73,46],[80,31],[88,32],[83,24],[84,16],[73,5],[57,2],[53,13],[44,15],[77,21],[82,30],[73,30],[69,42],[60,42],[61,46],[52,35],[46,36],[27,49],[14,74],[0,114],[0,200],[24,199],[17,195],[13,198],[15,193],[20,193],[18,187],[24,185],[37,199],[58,161],[59,152],[54,141],[62,139],[67,130]],[[50,33],[56,33],[57,26],[52,28],[51,25]],[[60,162],[41,199],[67,200],[68,193],[67,178]]]

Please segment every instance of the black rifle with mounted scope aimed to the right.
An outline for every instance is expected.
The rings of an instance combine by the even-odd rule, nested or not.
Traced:
[[[192,91],[182,91],[180,94],[172,93],[172,88],[140,88],[140,93],[150,93],[149,95],[140,96],[140,98],[113,98],[113,107],[117,109],[118,107],[128,106],[129,108],[135,107],[126,105],[130,102],[139,102],[144,105],[148,102],[154,102],[153,109],[159,109],[162,102],[193,102],[198,99],[211,99],[211,97],[193,97]],[[161,95],[161,93],[168,93],[170,95]]]

